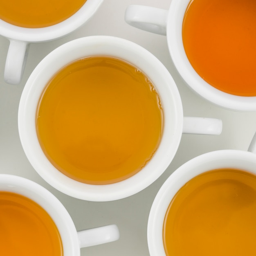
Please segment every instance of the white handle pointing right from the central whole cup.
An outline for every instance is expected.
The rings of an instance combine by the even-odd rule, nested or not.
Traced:
[[[184,117],[182,133],[220,135],[222,120],[205,117]]]

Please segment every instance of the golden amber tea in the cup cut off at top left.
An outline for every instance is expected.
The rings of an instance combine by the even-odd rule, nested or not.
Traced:
[[[0,19],[19,27],[55,25],[78,11],[86,0],[2,0]]]

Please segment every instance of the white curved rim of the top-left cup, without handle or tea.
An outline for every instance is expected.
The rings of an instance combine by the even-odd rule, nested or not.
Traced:
[[[18,27],[0,20],[0,34],[8,39],[27,43],[45,42],[61,38],[87,22],[97,11],[103,0],[87,0],[70,18],[49,27]]]

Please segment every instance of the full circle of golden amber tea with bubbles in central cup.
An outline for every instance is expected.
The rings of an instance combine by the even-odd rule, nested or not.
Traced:
[[[161,140],[162,103],[148,77],[108,56],[60,70],[45,88],[36,116],[50,162],[74,180],[110,184],[139,172]]]

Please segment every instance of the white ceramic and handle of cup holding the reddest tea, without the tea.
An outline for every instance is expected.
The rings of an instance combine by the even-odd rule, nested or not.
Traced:
[[[237,111],[255,111],[256,97],[243,97],[222,92],[209,85],[191,66],[182,41],[182,22],[190,0],[172,0],[169,10],[130,5],[126,9],[125,20],[128,24],[167,36],[168,49],[173,63],[184,81],[204,99]]]

